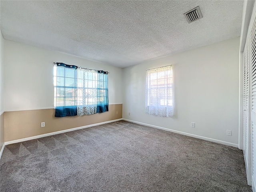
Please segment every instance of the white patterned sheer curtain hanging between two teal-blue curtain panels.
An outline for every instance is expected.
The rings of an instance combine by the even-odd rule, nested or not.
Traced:
[[[77,68],[77,114],[90,115],[97,112],[98,71]]]

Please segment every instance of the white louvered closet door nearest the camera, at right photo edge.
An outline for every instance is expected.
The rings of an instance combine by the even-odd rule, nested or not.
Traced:
[[[250,30],[250,82],[251,82],[251,129],[252,129],[252,187],[256,181],[256,17]]]

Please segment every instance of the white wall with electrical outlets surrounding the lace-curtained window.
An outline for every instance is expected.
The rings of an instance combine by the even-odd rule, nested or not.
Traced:
[[[123,118],[238,144],[238,51],[239,38],[234,38],[124,68]],[[146,70],[170,64],[174,116],[146,114]]]

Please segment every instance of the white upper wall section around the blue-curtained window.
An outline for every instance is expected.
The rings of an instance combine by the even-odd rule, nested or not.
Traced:
[[[4,40],[5,111],[53,108],[53,62],[110,72],[109,104],[122,103],[122,69]]]

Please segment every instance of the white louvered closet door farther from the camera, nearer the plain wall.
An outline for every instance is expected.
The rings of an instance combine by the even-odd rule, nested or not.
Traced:
[[[247,182],[252,183],[252,153],[250,129],[250,36],[246,40],[243,62],[243,153],[246,167]]]

